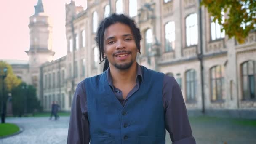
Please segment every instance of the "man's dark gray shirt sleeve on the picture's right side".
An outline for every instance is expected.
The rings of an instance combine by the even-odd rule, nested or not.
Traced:
[[[174,77],[164,76],[165,128],[173,144],[195,144],[181,89]]]

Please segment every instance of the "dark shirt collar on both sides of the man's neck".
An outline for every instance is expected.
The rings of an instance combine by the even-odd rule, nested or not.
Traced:
[[[106,75],[107,75],[107,82],[111,86],[112,90],[115,91],[115,87],[113,85],[113,81],[112,81],[112,77],[111,77],[110,69],[109,68],[106,70]],[[142,69],[141,69],[141,66],[137,63],[136,83],[138,81],[139,84],[140,84],[142,82],[142,80],[143,80]]]

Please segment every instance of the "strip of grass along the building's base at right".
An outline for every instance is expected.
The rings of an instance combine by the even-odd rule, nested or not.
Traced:
[[[223,117],[209,117],[197,116],[189,117],[190,123],[227,123],[231,125],[248,125],[256,127],[256,120],[247,120],[240,118],[223,118]]]

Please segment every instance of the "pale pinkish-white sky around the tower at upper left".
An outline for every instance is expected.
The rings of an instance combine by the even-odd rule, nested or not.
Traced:
[[[45,13],[53,22],[53,59],[67,54],[65,30],[65,3],[70,0],[42,0]],[[85,5],[86,0],[75,0]],[[0,59],[28,60],[29,17],[32,16],[37,0],[3,0],[0,5]]]

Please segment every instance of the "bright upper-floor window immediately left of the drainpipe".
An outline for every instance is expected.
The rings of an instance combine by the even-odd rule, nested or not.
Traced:
[[[197,45],[197,14],[193,13],[186,18],[186,42],[187,46]]]

